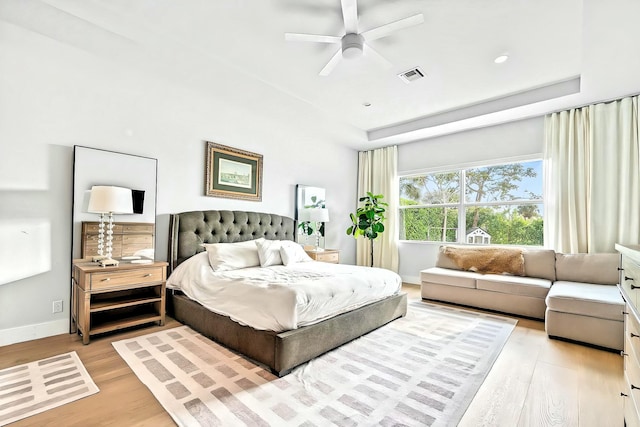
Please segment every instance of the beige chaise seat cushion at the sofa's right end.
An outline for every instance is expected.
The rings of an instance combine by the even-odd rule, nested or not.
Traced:
[[[546,303],[549,310],[623,321],[624,300],[617,286],[558,281]]]

